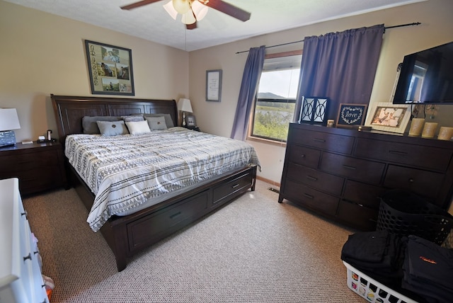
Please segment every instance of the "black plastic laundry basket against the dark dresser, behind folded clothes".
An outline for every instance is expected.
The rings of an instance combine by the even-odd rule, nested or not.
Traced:
[[[410,191],[390,190],[381,196],[377,230],[413,234],[442,245],[452,227],[452,215]]]

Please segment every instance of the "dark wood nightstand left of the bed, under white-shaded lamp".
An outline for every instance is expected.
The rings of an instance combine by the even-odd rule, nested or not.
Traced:
[[[23,195],[51,188],[68,188],[59,143],[17,143],[0,148],[0,179],[18,178]]]

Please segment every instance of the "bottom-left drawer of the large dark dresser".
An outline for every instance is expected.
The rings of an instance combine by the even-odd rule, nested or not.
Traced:
[[[337,211],[338,198],[291,180],[285,183],[285,198],[299,205],[321,210],[327,215],[335,215]]]

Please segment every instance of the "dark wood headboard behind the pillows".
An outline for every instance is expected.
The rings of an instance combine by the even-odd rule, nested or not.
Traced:
[[[174,100],[101,98],[50,95],[57,120],[58,139],[64,145],[67,135],[81,134],[82,118],[96,115],[133,115],[168,113],[178,125],[178,108]]]

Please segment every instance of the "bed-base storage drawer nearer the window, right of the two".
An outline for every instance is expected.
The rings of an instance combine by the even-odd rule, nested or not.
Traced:
[[[253,184],[253,173],[250,170],[241,173],[239,176],[233,176],[231,180],[222,185],[212,188],[212,204],[218,204],[224,200],[231,199],[231,196],[239,195]]]

